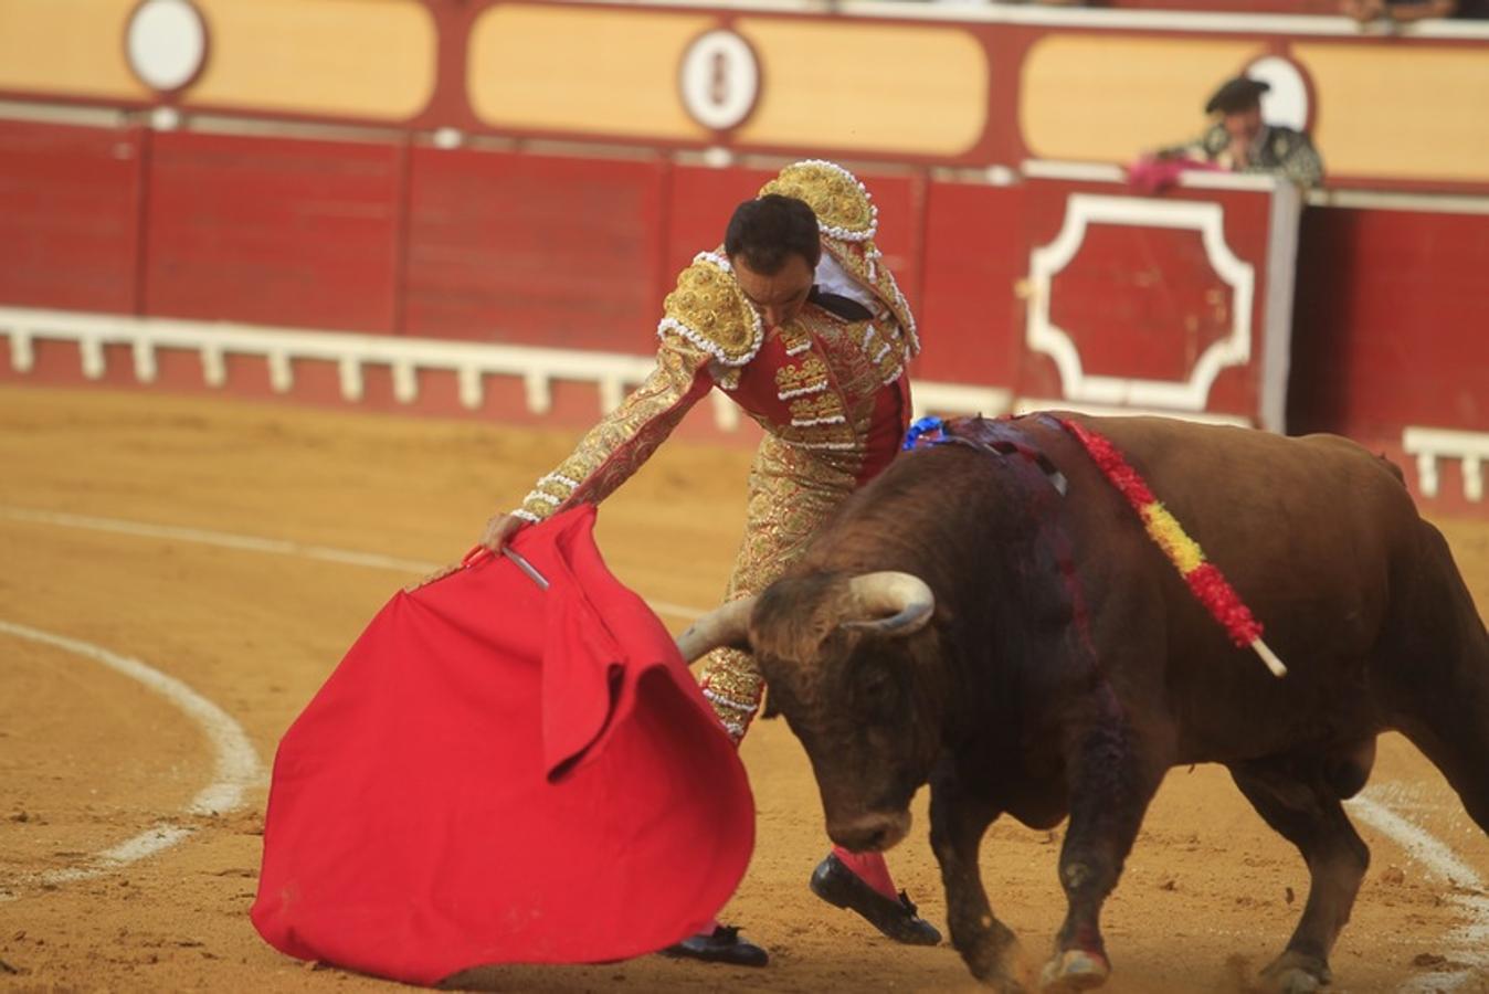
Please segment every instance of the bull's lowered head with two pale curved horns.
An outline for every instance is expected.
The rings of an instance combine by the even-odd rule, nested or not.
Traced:
[[[931,588],[908,573],[819,573],[725,604],[677,646],[689,661],[719,646],[752,652],[771,710],[812,760],[828,835],[884,850],[910,830],[910,799],[938,748],[916,658],[934,640],[934,612]]]

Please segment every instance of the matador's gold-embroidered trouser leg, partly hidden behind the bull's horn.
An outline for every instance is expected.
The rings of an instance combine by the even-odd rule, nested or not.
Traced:
[[[786,571],[829,513],[853,493],[852,460],[819,458],[767,436],[749,476],[744,540],[725,601],[753,597]],[[704,656],[703,695],[740,741],[759,710],[765,683],[755,658],[737,649]]]

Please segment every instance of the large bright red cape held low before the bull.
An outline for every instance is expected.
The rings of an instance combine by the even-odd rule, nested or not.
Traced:
[[[700,932],[755,808],[657,616],[610,576],[594,509],[526,528],[378,612],[284,734],[252,918],[274,948],[433,984],[594,963]]]

